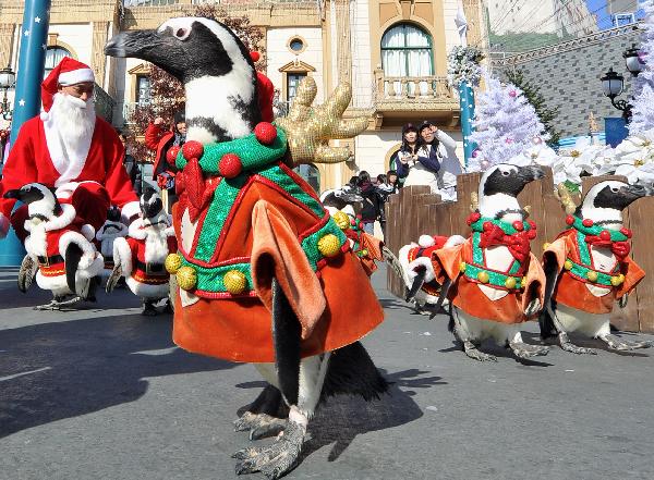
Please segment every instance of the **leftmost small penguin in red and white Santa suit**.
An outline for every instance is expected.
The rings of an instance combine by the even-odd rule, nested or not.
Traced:
[[[39,183],[9,190],[4,198],[26,204],[29,216],[19,290],[26,293],[36,274],[37,285],[53,295],[49,304],[35,309],[58,310],[81,300],[95,301],[96,276],[104,258],[92,242],[93,226],[84,224],[72,205],[60,204],[55,193]]]

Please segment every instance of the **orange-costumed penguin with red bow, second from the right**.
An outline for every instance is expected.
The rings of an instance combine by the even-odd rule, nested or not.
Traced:
[[[526,220],[517,197],[543,176],[537,167],[491,167],[480,182],[479,209],[468,218],[472,235],[432,255],[436,278],[445,276],[441,296],[451,304],[450,331],[472,359],[497,361],[479,349],[486,339],[510,347],[521,359],[549,352],[524,343],[520,332],[541,309],[544,274],[530,249],[536,225]]]

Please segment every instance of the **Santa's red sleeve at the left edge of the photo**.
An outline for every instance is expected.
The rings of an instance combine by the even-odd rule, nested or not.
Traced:
[[[21,188],[32,182],[37,182],[37,171],[34,163],[34,144],[32,138],[36,135],[35,128],[38,128],[38,118],[25,122],[19,131],[19,136],[12,145],[2,169],[2,180],[0,181],[0,213],[9,218],[11,209],[16,200],[4,199],[2,195],[5,192]]]

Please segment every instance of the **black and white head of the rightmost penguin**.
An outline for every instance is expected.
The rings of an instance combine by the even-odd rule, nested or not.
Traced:
[[[619,230],[622,210],[639,198],[654,195],[652,186],[629,185],[617,180],[600,182],[589,189],[576,214],[596,224]]]

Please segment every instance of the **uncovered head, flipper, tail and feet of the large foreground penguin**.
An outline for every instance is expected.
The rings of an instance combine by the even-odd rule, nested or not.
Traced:
[[[228,141],[250,135],[261,121],[257,76],[245,46],[223,24],[204,17],[179,17],[156,30],[121,33],[106,53],[149,61],[180,79],[186,94],[186,141]],[[195,226],[182,218],[180,242]],[[182,292],[180,295],[185,295]],[[307,424],[318,403],[336,393],[371,399],[387,390],[367,353],[355,342],[336,352],[300,359],[295,312],[272,278],[275,364],[256,364],[270,384],[235,422],[251,440],[277,434],[277,442],[237,452],[237,473],[264,472],[276,479],[296,466]],[[182,305],[184,299],[182,298]],[[277,418],[282,416],[283,418]],[[288,418],[287,418],[288,416]]]

